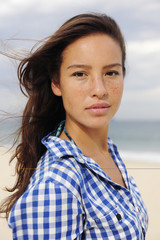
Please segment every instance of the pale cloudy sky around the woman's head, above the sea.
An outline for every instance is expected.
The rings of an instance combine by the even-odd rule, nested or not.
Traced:
[[[159,0],[0,0],[0,51],[23,52],[86,12],[106,13],[119,24],[127,47],[122,103],[115,119],[160,120]],[[16,76],[18,61],[0,54],[0,110],[26,103]]]

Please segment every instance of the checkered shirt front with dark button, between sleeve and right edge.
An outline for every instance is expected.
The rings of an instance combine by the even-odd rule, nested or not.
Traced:
[[[104,236],[99,239],[108,239],[116,232],[120,234],[119,239],[144,239],[147,214],[140,196],[132,196],[125,188],[117,190],[110,182],[86,171],[82,199],[86,239],[98,233]]]

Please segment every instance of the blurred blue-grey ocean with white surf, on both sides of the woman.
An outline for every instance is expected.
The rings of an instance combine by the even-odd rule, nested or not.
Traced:
[[[19,118],[0,121],[0,146],[11,146],[19,126]],[[109,137],[126,160],[160,162],[160,121],[112,120]]]

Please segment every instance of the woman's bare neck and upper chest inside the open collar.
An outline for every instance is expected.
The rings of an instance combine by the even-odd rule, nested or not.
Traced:
[[[70,125],[66,121],[65,128],[69,137],[63,131],[60,135],[61,138],[72,139],[82,150],[82,153],[94,159],[114,182],[126,187],[122,174],[108,151],[109,125],[102,129],[91,129],[73,123]]]

